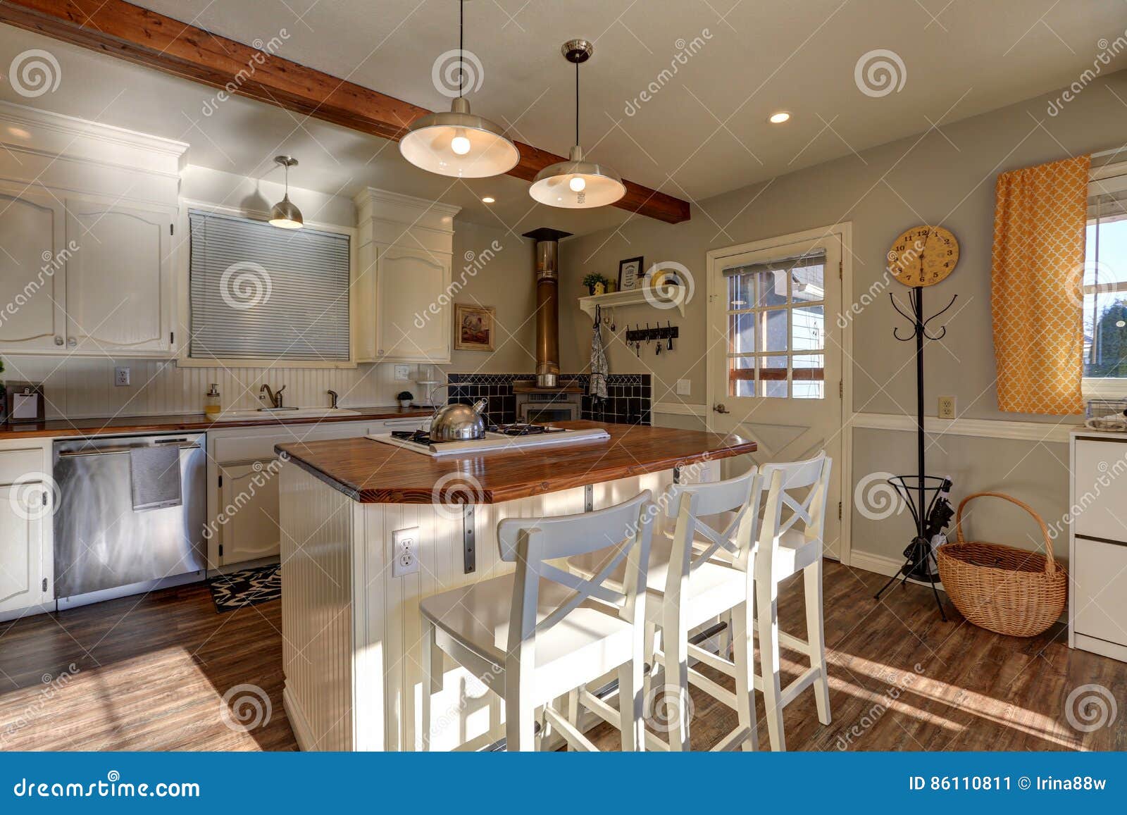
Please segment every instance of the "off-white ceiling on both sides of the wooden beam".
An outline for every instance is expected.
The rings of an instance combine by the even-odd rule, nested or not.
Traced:
[[[279,37],[286,59],[432,109],[450,104],[432,68],[458,47],[455,0],[137,5],[245,43]],[[476,113],[566,154],[574,73],[559,45],[592,38],[595,55],[582,69],[588,154],[694,203],[1063,87],[1092,67],[1099,41],[1127,28],[1124,0],[474,0],[465,15],[465,47],[483,69],[468,95]],[[694,38],[696,53],[685,56]],[[5,82],[0,98],[181,139],[192,163],[273,178],[270,157],[291,152],[299,186],[438,197],[469,220],[516,231],[585,232],[629,216],[536,205],[508,177],[451,185],[407,165],[394,144],[246,99],[204,116],[211,89],[0,26],[0,69],[27,47],[60,61],[57,90],[27,99]],[[869,96],[855,83],[859,59],[877,48],[903,61],[899,91]],[[1120,55],[1102,71],[1124,67]],[[651,83],[657,91],[639,103]],[[778,109],[793,119],[767,124]],[[497,204],[481,204],[486,194]]]

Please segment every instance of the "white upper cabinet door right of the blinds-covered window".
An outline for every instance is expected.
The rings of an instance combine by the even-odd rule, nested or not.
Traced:
[[[450,362],[450,256],[390,248],[378,266],[376,357]]]

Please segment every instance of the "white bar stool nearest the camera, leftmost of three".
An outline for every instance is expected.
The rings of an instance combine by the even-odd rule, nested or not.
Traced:
[[[513,517],[497,525],[503,560],[516,570],[419,603],[423,615],[423,745],[429,748],[431,693],[442,689],[443,653],[505,700],[508,750],[535,748],[533,718],[569,746],[595,746],[552,700],[616,672],[622,750],[644,748],[642,668],[646,564],[658,510],[646,490],[605,510],[577,515]],[[549,560],[601,552],[606,568],[589,579]],[[619,569],[623,582],[606,576]],[[496,688],[499,681],[500,688]]]

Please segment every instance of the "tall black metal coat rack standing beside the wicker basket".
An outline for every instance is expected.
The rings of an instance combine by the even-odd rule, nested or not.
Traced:
[[[947,336],[947,326],[941,326],[937,334],[931,334],[928,330],[928,326],[931,325],[935,318],[940,315],[947,312],[955,301],[958,300],[959,295],[955,294],[951,300],[942,309],[937,311],[931,317],[924,319],[923,316],[923,286],[913,286],[908,292],[908,302],[912,305],[912,313],[907,313],[900,304],[896,302],[896,296],[889,292],[888,298],[893,301],[893,308],[904,317],[909,324],[912,324],[912,333],[907,336],[900,336],[899,327],[893,329],[893,336],[902,343],[911,343],[913,339],[916,345],[915,362],[916,362],[916,475],[914,476],[895,476],[888,479],[888,482],[893,485],[896,491],[904,498],[908,508],[912,511],[912,519],[915,521],[916,534],[912,543],[904,550],[905,561],[900,567],[899,572],[893,575],[891,579],[884,585],[884,587],[877,592],[876,599],[879,600],[880,595],[900,578],[900,584],[903,585],[908,577],[915,577],[917,579],[928,579],[931,583],[931,590],[935,595],[935,604],[939,606],[939,614],[947,621],[947,614],[943,613],[943,603],[939,599],[939,590],[935,587],[935,572],[932,565],[934,564],[935,556],[931,550],[931,539],[934,534],[938,534],[943,526],[950,521],[950,506],[947,502],[947,495],[951,488],[951,481],[947,477],[940,476],[929,476],[926,467],[926,438],[924,436],[923,420],[924,420],[924,392],[923,392],[923,346],[924,340],[930,339],[938,342]],[[929,500],[928,496],[931,495]]]

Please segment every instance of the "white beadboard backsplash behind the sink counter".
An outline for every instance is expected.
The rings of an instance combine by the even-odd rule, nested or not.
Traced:
[[[394,405],[400,390],[421,399],[415,382],[394,381],[391,364],[358,365],[355,369],[310,367],[177,367],[171,360],[105,360],[85,357],[5,357],[9,382],[43,382],[47,418],[101,416],[158,416],[202,413],[204,393],[219,384],[224,410],[261,407],[258,389],[266,383],[283,384],[285,404],[296,407],[328,407],[328,390],[340,395],[340,407]],[[114,386],[114,367],[130,369],[131,384]],[[414,366],[412,366],[414,373]]]

